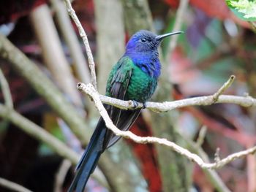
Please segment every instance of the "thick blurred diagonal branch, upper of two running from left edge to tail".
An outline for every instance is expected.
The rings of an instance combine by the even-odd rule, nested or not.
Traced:
[[[61,118],[69,125],[81,142],[87,143],[89,135],[84,134],[86,123],[75,107],[70,104],[46,75],[6,37],[0,34],[0,55],[10,62],[40,96],[42,96]]]

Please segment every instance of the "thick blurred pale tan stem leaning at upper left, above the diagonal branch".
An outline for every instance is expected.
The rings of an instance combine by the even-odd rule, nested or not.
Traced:
[[[42,4],[33,9],[30,19],[33,23],[32,26],[34,27],[39,45],[42,48],[42,57],[53,78],[56,80],[56,84],[61,88],[61,91],[69,96],[73,104],[82,108],[82,101],[75,90],[75,79],[62,50],[61,40],[53,23],[48,5]],[[48,39],[48,41],[45,41],[45,39]]]

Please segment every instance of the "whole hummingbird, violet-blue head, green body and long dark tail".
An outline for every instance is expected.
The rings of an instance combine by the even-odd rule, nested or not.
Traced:
[[[157,88],[161,64],[159,61],[159,47],[162,39],[171,35],[181,34],[182,31],[157,35],[151,31],[140,30],[129,39],[124,55],[110,71],[106,96],[121,100],[131,100],[145,104],[151,99]],[[140,114],[141,109],[121,110],[104,104],[110,119],[117,128],[127,131]],[[75,177],[69,187],[69,192],[83,192],[86,183],[97,166],[100,155],[114,145],[120,137],[113,134],[99,118],[94,133],[91,136],[75,170]]]

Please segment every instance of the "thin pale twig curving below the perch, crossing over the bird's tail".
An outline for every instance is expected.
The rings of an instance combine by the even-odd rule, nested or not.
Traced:
[[[82,86],[82,84],[80,84]],[[195,161],[199,166],[201,166],[203,169],[217,169],[219,167],[225,166],[225,164],[230,163],[231,161],[242,158],[246,155],[253,154],[256,152],[256,146],[249,148],[248,150],[243,150],[238,153],[233,153],[231,155],[228,155],[226,158],[223,158],[219,160],[218,162],[214,162],[212,164],[206,164],[203,162],[202,158],[200,156],[196,155],[195,153],[191,153],[189,150],[184,149],[183,147],[180,147],[179,145],[176,145],[174,142],[170,142],[167,139],[163,138],[157,138],[157,137],[138,137],[137,135],[133,134],[131,131],[121,131],[119,130],[112,122],[110,117],[108,116],[108,112],[105,110],[102,101],[99,98],[99,93],[94,89],[94,86],[89,84],[84,86],[83,88],[80,88],[78,86],[79,90],[85,91],[91,98],[94,100],[94,103],[97,107],[97,110],[99,110],[100,115],[105,120],[105,124],[108,128],[110,128],[111,131],[113,131],[114,134],[125,137],[127,139],[132,139],[135,142],[138,143],[158,143],[160,145],[165,145],[167,147],[170,147],[172,150],[175,150],[177,153],[186,156],[191,161]]]

